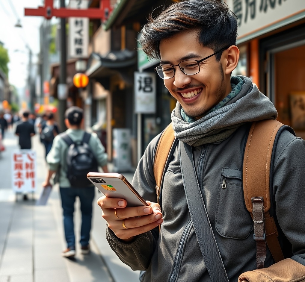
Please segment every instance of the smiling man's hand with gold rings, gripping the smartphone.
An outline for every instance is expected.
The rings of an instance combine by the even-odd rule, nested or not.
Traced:
[[[146,202],[147,206],[126,208],[124,199],[103,196],[97,201],[108,227],[118,238],[127,242],[163,222],[160,205]]]

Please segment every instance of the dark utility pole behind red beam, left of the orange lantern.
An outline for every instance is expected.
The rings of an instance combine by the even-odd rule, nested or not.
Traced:
[[[65,0],[60,0],[60,8],[65,8]],[[66,130],[64,115],[67,104],[67,85],[66,85],[66,18],[60,18],[60,69],[59,69],[59,85],[58,93],[58,114],[59,126],[61,131]]]

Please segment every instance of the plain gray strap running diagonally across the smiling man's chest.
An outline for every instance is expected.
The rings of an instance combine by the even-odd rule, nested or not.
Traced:
[[[192,147],[181,141],[179,143],[180,167],[185,196],[206,269],[213,282],[228,282],[229,279],[224,269],[224,263],[198,184]]]

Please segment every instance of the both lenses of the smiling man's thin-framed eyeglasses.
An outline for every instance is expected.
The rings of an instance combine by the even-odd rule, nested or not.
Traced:
[[[199,73],[199,64],[196,60],[183,61],[178,66],[185,74],[192,75]],[[161,65],[157,67],[157,73],[161,78],[169,79],[174,77],[175,70],[172,65]]]

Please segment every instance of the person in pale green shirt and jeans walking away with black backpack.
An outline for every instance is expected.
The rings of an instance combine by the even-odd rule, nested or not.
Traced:
[[[49,170],[43,187],[51,186],[50,179],[57,171],[59,189],[63,207],[63,223],[67,248],[64,257],[75,255],[74,202],[78,196],[81,202],[81,253],[90,252],[89,239],[92,219],[92,202],[95,188],[87,179],[88,172],[97,172],[98,166],[104,172],[107,169],[107,154],[97,134],[82,130],[83,110],[73,106],[65,112],[65,124],[68,128],[57,135],[47,155]]]

